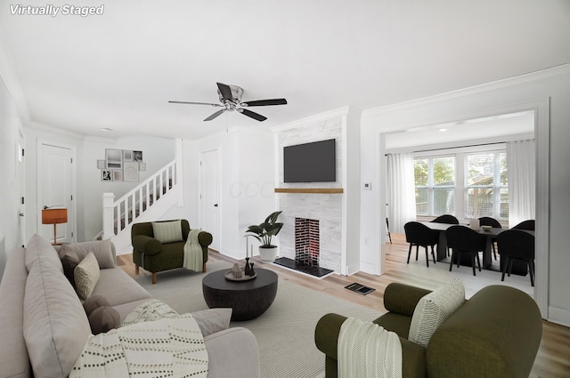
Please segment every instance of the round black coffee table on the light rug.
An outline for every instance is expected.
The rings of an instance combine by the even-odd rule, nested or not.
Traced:
[[[257,276],[248,281],[230,281],[217,270],[202,279],[202,293],[210,309],[232,308],[232,320],[257,318],[269,309],[277,294],[277,274],[256,268]]]

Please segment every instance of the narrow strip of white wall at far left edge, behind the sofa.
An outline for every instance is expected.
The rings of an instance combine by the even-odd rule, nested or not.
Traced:
[[[17,182],[20,117],[0,76],[0,278],[7,253],[20,245],[20,217]]]

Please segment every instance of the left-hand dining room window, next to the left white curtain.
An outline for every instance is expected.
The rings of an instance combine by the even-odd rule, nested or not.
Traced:
[[[454,213],[455,157],[414,159],[414,178],[418,215]]]

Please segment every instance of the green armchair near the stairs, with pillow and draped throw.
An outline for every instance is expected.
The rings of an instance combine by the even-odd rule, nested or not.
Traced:
[[[131,243],[133,244],[134,274],[139,274],[139,267],[152,273],[152,284],[157,283],[157,273],[164,270],[182,268],[184,259],[184,245],[190,224],[181,220],[182,241],[161,244],[154,238],[152,222],[134,223],[131,229]],[[208,261],[208,245],[212,244],[212,234],[201,231],[198,234],[198,242],[202,247],[204,266]]]

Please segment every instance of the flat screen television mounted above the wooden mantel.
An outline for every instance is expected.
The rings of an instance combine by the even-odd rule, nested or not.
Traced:
[[[336,140],[314,141],[284,147],[283,181],[337,181]]]

